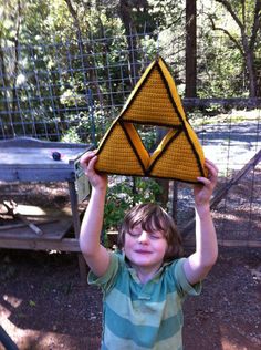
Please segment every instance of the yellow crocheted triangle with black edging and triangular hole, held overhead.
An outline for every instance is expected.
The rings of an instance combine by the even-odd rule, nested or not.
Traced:
[[[135,124],[168,127],[150,155]],[[97,150],[96,171],[197,183],[206,176],[205,156],[177,93],[174,79],[161,58],[144,72],[121,114]]]

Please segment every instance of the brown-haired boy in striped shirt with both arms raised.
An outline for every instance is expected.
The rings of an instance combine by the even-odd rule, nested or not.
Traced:
[[[208,178],[196,185],[196,251],[181,258],[180,238],[171,217],[159,206],[142,204],[126,215],[119,231],[123,254],[100,244],[107,177],[95,172],[95,152],[81,165],[92,185],[80,246],[91,268],[90,284],[104,294],[102,349],[182,349],[181,306],[200,292],[200,281],[217,260],[218,246],[209,200],[218,169],[206,159]]]

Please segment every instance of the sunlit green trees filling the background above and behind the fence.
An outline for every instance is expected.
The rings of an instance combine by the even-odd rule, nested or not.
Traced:
[[[260,96],[260,0],[4,1],[0,137],[100,138],[157,54],[182,97]]]

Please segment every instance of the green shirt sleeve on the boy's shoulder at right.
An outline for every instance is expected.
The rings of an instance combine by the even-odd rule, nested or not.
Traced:
[[[184,271],[184,262],[186,258],[178,259],[178,261],[175,264],[175,279],[177,281],[177,287],[179,289],[179,292],[189,296],[198,296],[201,292],[202,285],[201,282],[190,285],[187,280],[187,277]]]

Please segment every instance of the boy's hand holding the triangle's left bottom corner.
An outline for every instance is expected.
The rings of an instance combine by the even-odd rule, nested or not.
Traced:
[[[94,165],[97,161],[96,152],[90,151],[82,155],[80,164],[87,176],[92,187],[96,189],[106,189],[107,175],[96,173]]]

